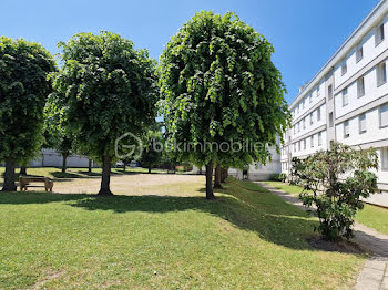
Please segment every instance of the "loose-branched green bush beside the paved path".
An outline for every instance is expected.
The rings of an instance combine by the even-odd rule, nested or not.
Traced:
[[[317,208],[319,226],[315,230],[331,241],[351,238],[354,217],[364,207],[360,199],[377,190],[377,176],[368,169],[377,168],[372,148],[355,151],[339,143],[330,151],[295,160],[293,176],[304,187],[299,198],[305,206]]]

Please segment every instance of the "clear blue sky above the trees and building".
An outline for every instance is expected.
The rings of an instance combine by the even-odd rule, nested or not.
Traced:
[[[309,81],[378,0],[160,0],[16,1],[0,4],[0,34],[37,41],[58,53],[57,43],[78,32],[108,30],[146,48],[159,59],[165,43],[200,10],[233,11],[275,46],[274,63],[287,101]]]

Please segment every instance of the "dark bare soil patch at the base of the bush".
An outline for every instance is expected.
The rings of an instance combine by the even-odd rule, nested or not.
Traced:
[[[360,245],[349,241],[349,240],[340,240],[337,242],[325,240],[321,237],[313,236],[306,238],[307,242],[316,249],[324,251],[337,251],[337,252],[346,252],[346,253],[358,253],[358,255],[367,255],[368,250],[363,248]]]

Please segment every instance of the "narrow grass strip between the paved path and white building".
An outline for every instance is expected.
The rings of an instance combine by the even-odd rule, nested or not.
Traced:
[[[296,185],[287,185],[280,182],[264,182],[276,189],[298,196],[302,187]],[[356,215],[356,221],[388,235],[388,209],[366,204],[364,209]]]

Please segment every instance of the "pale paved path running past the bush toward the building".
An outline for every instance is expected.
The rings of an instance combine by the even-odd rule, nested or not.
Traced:
[[[302,201],[293,195],[263,183],[258,184],[296,207],[307,210]],[[364,265],[353,290],[388,290],[388,236],[358,222],[355,224],[354,229],[355,241],[369,249],[372,257]]]

